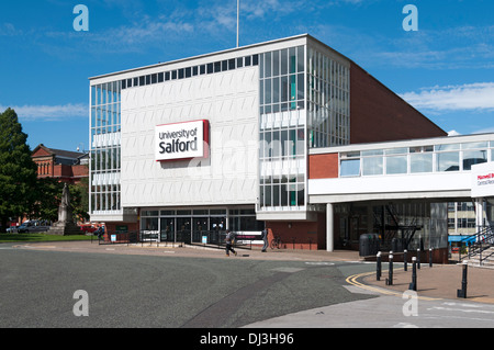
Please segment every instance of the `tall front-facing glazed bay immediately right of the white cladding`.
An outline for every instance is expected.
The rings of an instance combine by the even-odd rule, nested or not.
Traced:
[[[305,46],[259,55],[258,210],[305,207]]]

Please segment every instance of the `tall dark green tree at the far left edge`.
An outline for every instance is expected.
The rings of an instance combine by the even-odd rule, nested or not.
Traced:
[[[0,113],[0,223],[27,213],[35,202],[36,165],[26,144],[18,114],[12,109]]]

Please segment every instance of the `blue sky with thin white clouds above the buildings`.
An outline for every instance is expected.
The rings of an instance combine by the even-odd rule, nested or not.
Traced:
[[[77,4],[89,31],[76,32]],[[418,31],[406,32],[406,4]],[[494,132],[494,1],[240,0],[240,46],[308,33],[447,132]],[[88,149],[89,77],[235,47],[235,0],[5,0],[0,110],[31,148]]]

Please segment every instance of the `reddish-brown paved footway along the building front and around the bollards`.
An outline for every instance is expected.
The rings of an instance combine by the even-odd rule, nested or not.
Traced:
[[[99,245],[98,241],[57,241],[57,242],[30,242],[14,245],[24,249],[43,249],[58,251],[88,251],[101,253],[131,253],[131,255],[167,255],[180,257],[201,257],[215,259],[249,259],[249,260],[287,260],[287,261],[362,261],[358,251],[337,250],[333,252],[324,250],[293,250],[293,249],[268,249],[261,252],[260,248],[252,247],[251,250],[237,249],[238,256],[226,257],[224,250],[209,247],[181,247],[172,244],[133,244],[133,245]],[[374,262],[373,262],[374,264]],[[434,264],[422,263],[417,269],[417,294],[418,296],[433,298],[460,300],[457,290],[462,287],[461,264]],[[386,285],[389,276],[389,263],[382,263],[381,280],[377,281],[375,272],[367,272],[351,275],[347,279],[349,285],[362,290],[380,292],[383,295],[403,294],[408,290],[412,282],[412,263],[404,271],[403,263],[393,266],[393,283]],[[468,267],[467,298],[469,302],[494,304],[494,269]]]

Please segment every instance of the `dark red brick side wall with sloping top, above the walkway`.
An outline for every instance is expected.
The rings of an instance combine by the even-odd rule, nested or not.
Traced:
[[[359,66],[350,66],[350,143],[447,136]]]

